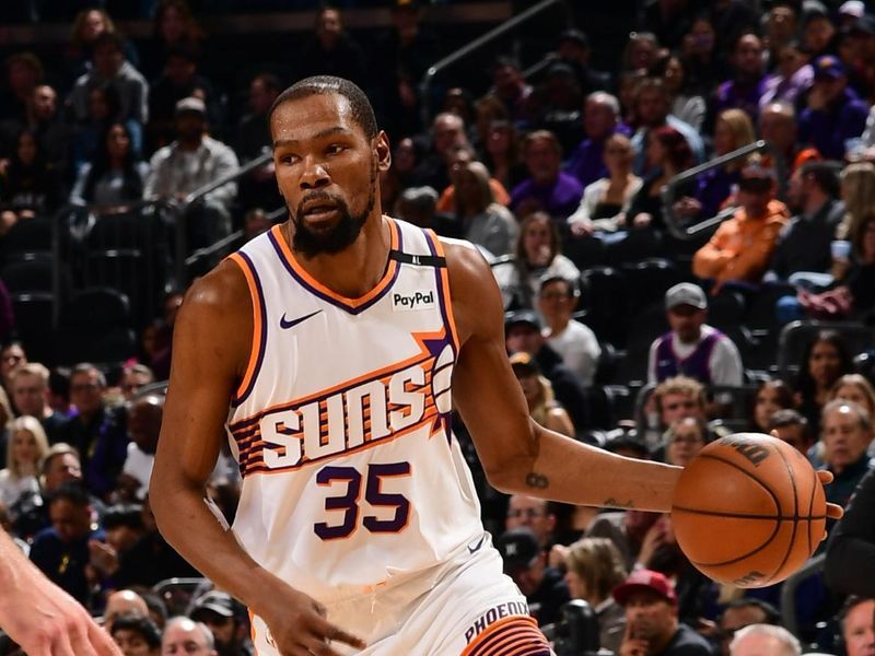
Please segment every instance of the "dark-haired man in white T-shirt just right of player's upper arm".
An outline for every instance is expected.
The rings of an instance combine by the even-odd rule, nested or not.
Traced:
[[[544,337],[562,362],[590,387],[595,380],[602,347],[595,332],[573,318],[578,306],[578,286],[560,276],[546,279],[538,294],[538,309],[544,317]]]

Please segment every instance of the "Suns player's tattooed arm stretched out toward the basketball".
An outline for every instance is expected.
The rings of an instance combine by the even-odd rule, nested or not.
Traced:
[[[665,512],[680,469],[610,454],[539,426],[504,349],[501,294],[475,250],[446,246],[451,296],[462,344],[453,398],[490,483],[578,505]]]

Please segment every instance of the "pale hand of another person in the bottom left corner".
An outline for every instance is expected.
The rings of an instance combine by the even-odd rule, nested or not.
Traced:
[[[36,570],[21,574],[11,605],[0,604],[0,625],[27,656],[121,656],[75,599]]]

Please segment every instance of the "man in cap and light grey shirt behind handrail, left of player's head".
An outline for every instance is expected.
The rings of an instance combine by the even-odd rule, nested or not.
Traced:
[[[176,140],[152,155],[147,199],[184,201],[240,167],[234,151],[207,133],[207,106],[201,98],[176,103],[175,126]],[[226,183],[189,208],[189,249],[208,246],[231,232],[231,203],[236,195],[236,183]]]

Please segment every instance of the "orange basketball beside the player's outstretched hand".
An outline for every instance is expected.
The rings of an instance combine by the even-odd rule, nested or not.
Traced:
[[[681,472],[672,524],[684,553],[707,576],[738,587],[783,581],[826,532],[826,497],[795,448],[759,433],[705,446]]]

